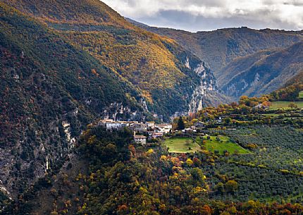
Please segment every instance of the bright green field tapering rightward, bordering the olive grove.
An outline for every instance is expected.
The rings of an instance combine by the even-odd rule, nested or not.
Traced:
[[[234,142],[230,142],[230,138],[226,136],[218,136],[220,140],[216,140],[216,136],[210,136],[208,140],[207,137],[204,137],[206,140],[205,147],[208,151],[214,152],[217,150],[220,154],[223,154],[224,150],[228,150],[231,154],[237,152],[238,154],[247,154],[248,150],[243,149],[240,145],[237,145]]]

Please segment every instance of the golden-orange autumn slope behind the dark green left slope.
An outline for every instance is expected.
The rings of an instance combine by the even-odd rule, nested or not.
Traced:
[[[188,109],[200,84],[194,69],[201,61],[173,39],[135,27],[97,0],[6,3],[58,30],[75,47],[134,85],[149,111],[167,119]]]

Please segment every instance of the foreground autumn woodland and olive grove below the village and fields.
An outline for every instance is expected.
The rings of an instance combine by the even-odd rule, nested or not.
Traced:
[[[302,173],[292,166],[302,132],[222,132],[243,147],[258,146],[242,155],[171,154],[160,145],[132,145],[128,130],[89,128],[66,172],[49,173],[2,214],[302,214]]]

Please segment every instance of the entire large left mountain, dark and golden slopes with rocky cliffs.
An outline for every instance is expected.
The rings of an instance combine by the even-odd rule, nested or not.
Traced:
[[[0,1],[0,10],[0,189],[11,197],[98,118],[168,120],[226,101],[216,91],[204,99],[216,80],[197,56],[100,1]]]

